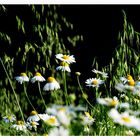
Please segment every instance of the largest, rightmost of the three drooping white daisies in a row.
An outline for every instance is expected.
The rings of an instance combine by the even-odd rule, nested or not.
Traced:
[[[50,91],[50,90],[57,90],[60,89],[59,83],[55,80],[53,77],[49,77],[47,79],[47,84],[44,86],[44,91]]]

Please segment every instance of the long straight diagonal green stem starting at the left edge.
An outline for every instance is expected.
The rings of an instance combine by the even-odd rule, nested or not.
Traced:
[[[16,92],[15,92],[13,86],[12,86],[11,79],[10,79],[10,77],[9,77],[7,71],[6,71],[6,68],[5,68],[5,66],[4,66],[3,61],[2,61],[1,58],[0,58],[0,61],[1,61],[1,64],[2,64],[2,67],[3,67],[4,71],[5,71],[5,73],[6,73],[6,76],[7,76],[8,80],[9,80],[9,83],[10,83],[10,86],[11,86],[12,91],[13,91],[13,93],[14,93],[14,96],[15,96],[15,98],[16,98],[16,102],[17,102],[17,104],[18,104],[18,107],[19,107],[19,110],[20,110],[20,113],[21,113],[22,120],[23,120],[24,123],[25,123],[24,116],[23,116],[23,112],[22,112],[22,110],[21,110],[21,107],[20,107],[20,104],[19,104],[19,101],[18,101],[18,98],[17,98]]]

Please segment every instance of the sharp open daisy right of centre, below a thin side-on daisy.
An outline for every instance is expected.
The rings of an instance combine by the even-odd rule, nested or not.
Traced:
[[[85,82],[87,86],[89,87],[99,87],[101,84],[104,83],[103,80],[97,79],[97,78],[89,78]]]

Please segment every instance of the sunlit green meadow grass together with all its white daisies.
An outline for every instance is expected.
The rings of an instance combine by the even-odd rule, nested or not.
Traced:
[[[35,11],[34,6],[32,9]],[[49,44],[55,38],[53,45],[44,44],[38,47],[36,44],[26,43],[25,50],[19,48],[15,58],[7,54],[1,57],[4,76],[0,80],[0,134],[2,136],[139,135],[140,34],[127,22],[124,12],[123,14],[123,30],[119,33],[119,45],[113,52],[110,63],[98,70],[100,64],[95,60],[91,69],[95,76],[87,77],[84,83],[80,81],[82,73],[69,71],[69,66],[76,63],[75,56],[63,48],[63,43],[58,43],[59,35],[54,37],[54,32],[52,33],[52,28],[49,27],[46,30],[50,40],[44,43]],[[23,22],[20,22],[18,17],[16,19],[22,24],[18,28],[25,33]],[[41,28],[36,27],[38,27],[36,31]],[[39,35],[43,40],[41,32]],[[55,45],[57,46],[55,50],[51,50]],[[14,65],[21,52],[23,55],[18,61],[25,66],[25,73],[15,75]],[[29,71],[32,65],[31,56],[38,59],[35,61],[36,64],[33,63],[34,71],[38,72],[35,75]],[[59,65],[59,62],[64,63]],[[58,65],[59,69],[56,70]],[[51,71],[50,74],[46,72],[46,67]],[[42,80],[41,76],[45,80]],[[71,79],[74,76],[77,85],[72,84],[75,83],[74,79]],[[32,78],[34,82],[31,82]],[[72,82],[69,82],[70,80]]]

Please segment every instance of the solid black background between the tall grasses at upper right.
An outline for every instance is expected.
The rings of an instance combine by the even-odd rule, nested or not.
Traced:
[[[140,5],[63,5],[62,14],[74,24],[84,42],[76,49],[77,70],[90,76],[92,62],[97,57],[99,68],[109,64],[118,33],[123,30],[123,12],[127,21],[140,32]]]

